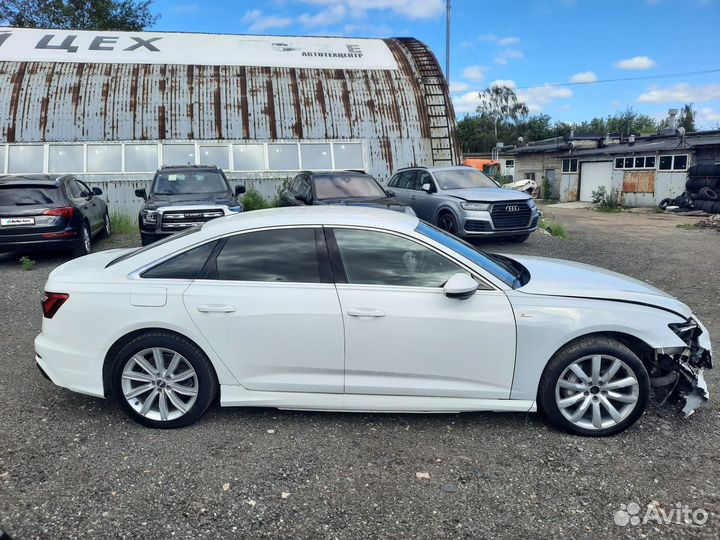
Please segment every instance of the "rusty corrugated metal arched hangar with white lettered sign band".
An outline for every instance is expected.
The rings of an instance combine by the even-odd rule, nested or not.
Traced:
[[[119,210],[162,164],[272,195],[299,169],[458,161],[445,79],[412,38],[0,28],[0,172],[75,173]]]

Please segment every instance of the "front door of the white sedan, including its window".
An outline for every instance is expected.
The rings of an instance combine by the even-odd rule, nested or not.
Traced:
[[[345,323],[345,392],[507,399],[515,319],[505,294],[479,279],[468,299],[442,285],[457,262],[415,239],[326,229]]]

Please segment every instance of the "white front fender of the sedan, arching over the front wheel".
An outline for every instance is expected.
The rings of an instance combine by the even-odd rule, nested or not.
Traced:
[[[679,315],[649,306],[529,295],[506,291],[515,312],[517,353],[511,399],[535,399],[545,366],[563,346],[589,334],[631,335],[653,349],[685,347],[668,328],[683,322]]]

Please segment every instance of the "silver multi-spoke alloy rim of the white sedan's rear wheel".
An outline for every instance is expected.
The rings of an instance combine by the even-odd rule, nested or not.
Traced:
[[[122,371],[122,392],[135,412],[166,422],[187,413],[197,399],[195,369],[180,353],[152,347],[135,353]]]

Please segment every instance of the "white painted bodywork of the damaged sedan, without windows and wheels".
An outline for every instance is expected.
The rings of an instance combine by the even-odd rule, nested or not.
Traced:
[[[577,337],[621,332],[657,351],[685,345],[668,324],[685,321],[690,309],[654,287],[576,263],[513,256],[532,276],[514,290],[416,232],[418,223],[413,216],[369,208],[260,210],[210,221],[197,233],[107,268],[128,250],[69,261],[48,278],[46,291],[70,297],[52,319],[43,319],[36,359],[55,384],[105,396],[103,363],[111,347],[131,332],[165,329],[205,352],[223,405],[528,411],[535,410],[545,365]],[[223,236],[319,225],[413,238],[476,274],[490,290],[460,300],[446,298],[442,289],[139,277],[148,265]],[[235,311],[198,312],[204,305],[232,305]],[[349,316],[356,308],[381,310],[385,317]],[[701,328],[699,343],[710,350]]]

